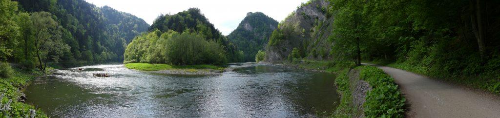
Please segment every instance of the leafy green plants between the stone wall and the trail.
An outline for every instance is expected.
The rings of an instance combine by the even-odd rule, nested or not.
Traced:
[[[359,78],[367,81],[372,90],[366,94],[364,115],[366,117],[403,117],[406,99],[394,83],[394,78],[375,66],[359,66]]]

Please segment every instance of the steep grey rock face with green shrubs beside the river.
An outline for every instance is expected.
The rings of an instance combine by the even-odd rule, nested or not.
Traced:
[[[329,50],[332,43],[328,36],[333,17],[327,15],[329,4],[327,0],[311,0],[280,22],[277,30],[283,38],[266,46],[265,61],[282,61],[294,47],[300,50],[302,57],[331,58]]]

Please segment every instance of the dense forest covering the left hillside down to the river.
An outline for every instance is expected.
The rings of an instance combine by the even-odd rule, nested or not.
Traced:
[[[83,0],[2,0],[2,5],[1,59],[27,68],[122,61],[125,45],[148,27],[129,13]]]

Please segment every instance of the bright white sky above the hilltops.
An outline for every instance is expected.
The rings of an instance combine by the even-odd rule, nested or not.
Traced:
[[[283,20],[298,5],[307,0],[85,0],[96,6],[110,6],[131,13],[148,24],[160,14],[177,13],[197,7],[222,34],[236,29],[247,12],[260,11],[269,17]]]

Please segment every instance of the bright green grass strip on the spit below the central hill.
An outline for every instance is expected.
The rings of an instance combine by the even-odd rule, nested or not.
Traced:
[[[224,67],[210,65],[210,64],[200,64],[200,65],[170,65],[170,64],[150,64],[150,63],[126,63],[126,68],[137,69],[144,71],[156,71],[156,70],[168,70],[168,69],[188,69],[189,71],[195,71],[195,69],[216,69],[221,70]]]

